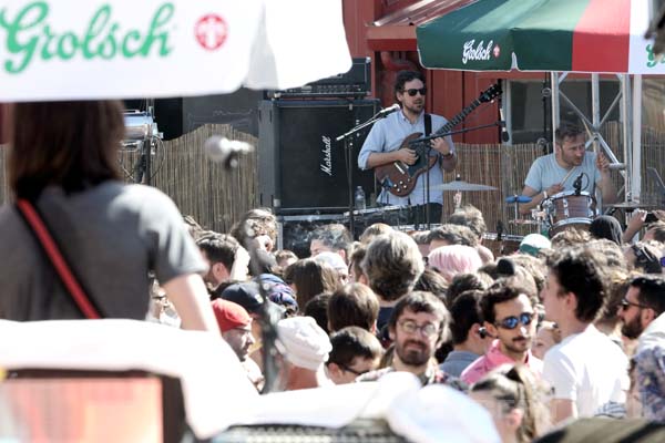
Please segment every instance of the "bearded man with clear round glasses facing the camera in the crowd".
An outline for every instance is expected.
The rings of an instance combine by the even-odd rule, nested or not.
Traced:
[[[395,306],[388,330],[395,342],[392,361],[388,368],[359,377],[358,381],[376,381],[395,372],[411,372],[426,384],[446,383],[463,389],[459,379],[441,371],[433,358],[434,351],[448,336],[450,315],[443,302],[430,292],[415,291]]]

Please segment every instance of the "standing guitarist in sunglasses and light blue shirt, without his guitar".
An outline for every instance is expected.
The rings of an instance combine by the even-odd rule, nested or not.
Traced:
[[[420,72],[400,71],[397,74],[395,96],[401,105],[401,111],[388,115],[374,125],[358,156],[358,166],[361,169],[371,169],[393,162],[402,162],[407,165],[417,162],[415,151],[407,147],[400,148],[405,138],[413,133],[429,134],[448,122],[440,115],[430,114],[431,124],[429,131],[426,131],[426,94],[424,78]],[[439,158],[438,165],[418,177],[416,187],[408,196],[399,197],[383,188],[377,200],[379,205],[416,206],[415,222],[424,223],[424,204],[428,202],[426,174],[429,174],[430,220],[432,223],[441,222],[443,194],[434,187],[443,183],[442,169],[447,172],[454,169],[457,155],[450,136],[436,138],[431,142],[431,145],[430,155],[436,155]]]

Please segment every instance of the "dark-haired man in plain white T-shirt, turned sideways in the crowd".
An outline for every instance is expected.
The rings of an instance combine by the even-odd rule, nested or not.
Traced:
[[[606,298],[602,257],[586,246],[548,258],[541,291],[545,318],[561,331],[561,343],[545,353],[543,379],[554,389],[552,420],[593,416],[610,403],[625,402],[628,360],[593,321]]]

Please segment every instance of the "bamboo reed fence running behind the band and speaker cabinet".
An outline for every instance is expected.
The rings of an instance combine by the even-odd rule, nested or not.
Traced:
[[[225,171],[223,166],[205,157],[203,145],[212,135],[241,140],[258,146],[256,137],[235,131],[229,125],[205,125],[180,138],[164,142],[153,155],[151,184],[171,196],[184,215],[193,216],[201,225],[217,231],[228,231],[231,226],[257,202],[257,152],[242,156],[236,169]],[[621,125],[611,122],[605,125],[603,136],[610,146],[620,146]],[[665,132],[644,127],[642,136],[642,200],[659,204],[662,196],[646,173],[646,167],[655,167],[665,177]],[[525,235],[536,231],[534,226],[519,226],[511,223],[514,210],[504,204],[504,198],[520,194],[531,163],[543,150],[536,144],[500,145],[458,144],[459,165],[454,173],[447,173],[446,181],[459,174],[464,182],[497,187],[491,192],[462,193],[462,203],[477,206],[484,215],[490,231],[498,222],[504,225],[505,234]],[[614,150],[620,161],[623,153]],[[9,199],[6,173],[7,150],[0,150],[0,198]],[[125,179],[133,182],[134,165],[139,159],[135,152],[120,152],[121,168]],[[623,185],[618,172],[613,172],[617,188]],[[324,192],[321,189],[321,192]],[[453,193],[446,193],[443,214],[454,209]]]

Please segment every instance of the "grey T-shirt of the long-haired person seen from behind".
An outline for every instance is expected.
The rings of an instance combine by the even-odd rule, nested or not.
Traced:
[[[149,270],[161,284],[206,269],[173,202],[155,188],[105,182],[38,206],[88,296],[105,317],[144,319]],[[0,208],[0,318],[81,318],[13,205]]]

